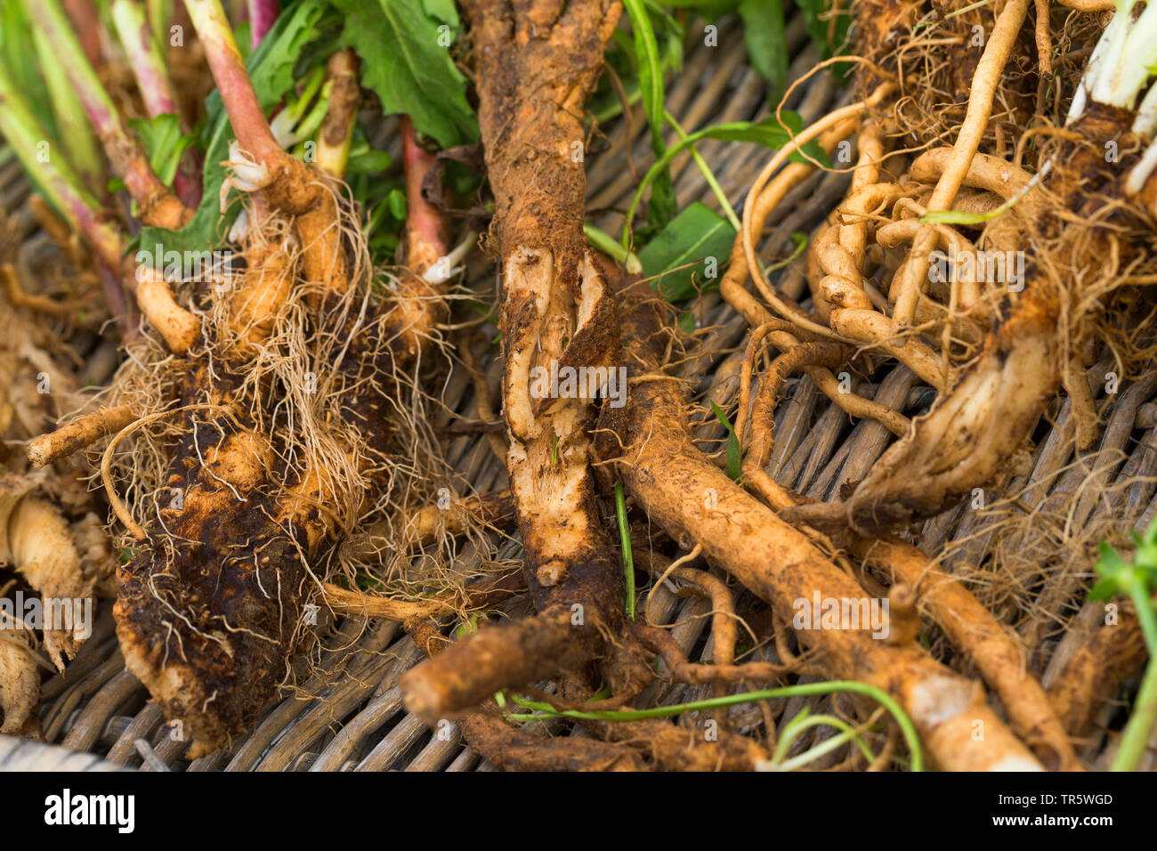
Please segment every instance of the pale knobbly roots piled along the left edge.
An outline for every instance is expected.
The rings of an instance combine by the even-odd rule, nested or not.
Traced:
[[[28,239],[37,226],[44,236]],[[86,472],[34,470],[22,445],[109,379],[116,350],[93,333],[106,318],[100,285],[62,222],[31,203],[0,227],[0,732],[38,738],[42,675],[83,644],[84,604],[115,596],[116,559]]]

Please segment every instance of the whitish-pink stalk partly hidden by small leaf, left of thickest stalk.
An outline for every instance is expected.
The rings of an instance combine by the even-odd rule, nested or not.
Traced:
[[[180,122],[180,131],[189,132],[189,126],[180,115],[180,107],[164,65],[160,44],[155,41],[145,17],[145,7],[137,0],[113,0],[111,6],[112,21],[117,36],[128,57],[137,87],[145,101],[145,110],[149,117],[176,115]],[[189,208],[196,208],[201,200],[200,168],[193,153],[186,151],[182,156],[180,168],[172,181],[177,197]]]

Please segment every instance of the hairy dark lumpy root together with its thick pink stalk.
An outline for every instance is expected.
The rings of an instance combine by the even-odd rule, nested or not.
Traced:
[[[244,277],[204,294],[204,333],[182,360],[159,368],[163,354],[149,351],[118,376],[110,403],[141,417],[110,443],[104,470],[148,515],[142,528],[118,509],[138,538],[115,608],[126,666],[184,721],[196,756],[228,744],[289,684],[290,660],[316,643],[308,607],[320,579],[356,567],[334,544],[393,513],[393,487],[406,478],[408,492],[408,471],[433,458],[417,420],[386,408],[413,383],[445,280],[415,292],[425,270],[411,270],[378,307],[353,211],[330,176],[277,145],[220,6],[189,6],[246,138],[236,167],[260,173],[259,185],[243,183],[261,197]],[[411,256],[422,251],[440,252]],[[426,317],[418,331],[414,317]],[[163,433],[141,434],[113,467],[116,443],[146,425]],[[407,471],[391,461],[399,454],[414,461]]]

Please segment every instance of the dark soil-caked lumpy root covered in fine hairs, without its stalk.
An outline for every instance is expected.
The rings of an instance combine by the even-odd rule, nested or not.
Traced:
[[[268,262],[252,274],[268,278]],[[279,280],[274,274],[273,286]],[[266,283],[243,303],[260,301]],[[401,447],[384,399],[406,381],[420,347],[395,313],[366,318],[367,287],[360,279],[351,298],[324,294],[310,309],[317,291],[295,283],[271,335],[299,340],[292,351],[302,346],[285,373],[260,367],[278,355],[258,337],[249,361],[256,371],[236,354],[213,361],[194,353],[179,387],[187,404],[163,479],[179,506],[159,512],[163,534],[120,571],[116,614],[126,663],[168,717],[185,721],[193,754],[228,743],[273,697],[308,639],[304,615],[319,589],[312,566],[361,519],[379,516],[376,500],[390,491],[389,458]],[[296,325],[295,315],[316,325]],[[252,345],[255,323],[248,327]],[[278,416],[277,396],[255,372],[294,394],[296,421]]]

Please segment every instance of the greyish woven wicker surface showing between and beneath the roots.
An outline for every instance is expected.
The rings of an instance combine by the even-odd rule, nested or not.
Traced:
[[[787,30],[795,57],[793,79],[816,63],[816,53],[805,37],[803,21],[793,20]],[[767,113],[767,91],[761,79],[747,66],[743,39],[735,24],[724,22],[720,47],[692,45],[683,71],[669,88],[668,108],[686,130],[707,124],[759,118]],[[843,96],[826,75],[815,75],[795,90],[787,107],[799,111],[805,122],[823,116]],[[649,162],[650,147],[646,119],[636,109],[632,122],[616,119],[603,129],[606,147],[588,159],[588,208],[599,227],[616,232],[621,227],[621,211],[634,189],[632,164],[643,168]],[[629,137],[629,138],[628,138]],[[631,162],[626,155],[632,152]],[[766,152],[754,146],[707,141],[700,152],[716,173],[720,184],[738,208]],[[27,197],[27,185],[10,167],[0,175],[7,208],[16,208]],[[690,156],[675,163],[676,189],[680,205],[701,200],[717,206],[707,184]],[[847,178],[840,175],[817,175],[795,190],[768,222],[771,236],[765,243],[767,256],[782,256],[790,250],[789,235],[811,232],[842,197]],[[481,259],[471,267],[471,278],[480,292],[493,287],[493,269]],[[784,270],[779,284],[789,294],[803,289],[801,264]],[[688,359],[681,375],[697,387],[703,398],[725,402],[738,387],[738,358],[747,328],[717,294],[708,294],[695,307],[700,328],[710,329],[701,337],[701,357]],[[737,347],[740,351],[737,351]],[[496,352],[496,347],[493,352]],[[695,352],[693,351],[692,354]],[[1093,367],[1091,375],[1101,379],[1108,364]],[[492,390],[496,394],[498,364],[488,365]],[[1082,535],[1099,528],[1092,522],[1107,522],[1117,528],[1147,522],[1157,504],[1157,428],[1154,427],[1151,399],[1157,382],[1123,386],[1111,398],[1100,398],[1104,428],[1101,443],[1085,457],[1074,456],[1067,406],[1052,411],[1049,424],[1038,432],[1032,474],[1014,482],[1010,492],[1019,493],[1016,511],[1029,512],[1048,505],[1051,494],[1070,494],[1086,490],[1089,499],[1067,499],[1071,511],[1060,520],[1041,515],[1033,534],[1048,537],[1053,549],[1063,551],[1067,536],[1074,548],[1083,545]],[[908,416],[927,410],[930,390],[914,380],[904,367],[885,368],[871,383],[856,384],[861,395],[875,397],[902,409]],[[1103,395],[1104,396],[1104,395]],[[496,397],[496,396],[495,396]],[[455,415],[474,417],[470,380],[456,366],[448,382],[447,411],[443,425]],[[718,441],[722,427],[703,420],[698,436]],[[775,418],[776,446],[769,470],[784,485],[811,497],[832,498],[847,482],[855,482],[879,457],[892,435],[872,421],[853,423],[819,394],[809,380],[794,383],[794,389],[780,405]],[[705,443],[708,448],[718,448]],[[458,436],[447,445],[448,456],[464,482],[477,492],[503,487],[506,474],[487,441],[479,435]],[[1031,485],[1025,490],[1026,485]],[[1008,505],[985,511],[968,506],[946,512],[930,520],[914,541],[928,552],[951,548],[945,559],[949,568],[961,564],[980,565],[992,552],[1009,520]],[[998,571],[1000,565],[990,565]],[[1074,597],[1073,588],[1086,575],[1088,563],[1059,563],[1045,582],[1041,594],[1055,595],[1062,603]],[[50,680],[44,688],[42,719],[45,739],[72,751],[83,751],[113,765],[142,770],[386,770],[411,771],[485,771],[494,765],[480,760],[460,741],[458,732],[447,727],[432,732],[415,717],[405,712],[397,688],[398,677],[414,665],[420,654],[413,641],[396,625],[362,622],[339,623],[327,640],[322,660],[324,675],[304,683],[300,694],[288,697],[264,714],[260,724],[235,742],[228,753],[218,751],[189,762],[183,757],[184,743],[176,740],[163,724],[160,710],[147,703],[140,683],[125,670],[113,634],[111,602],[101,607],[93,637],[62,676]],[[1063,609],[1059,606],[1057,610]],[[678,596],[666,587],[655,595],[654,611],[668,624],[679,624],[671,634],[692,658],[701,658],[708,643],[706,633],[709,606],[694,596]],[[517,607],[511,614],[518,614]],[[1026,641],[1029,665],[1047,681],[1048,661],[1055,655],[1060,626],[1071,615],[1059,616],[1053,624],[1038,630]],[[765,652],[774,659],[774,651]],[[676,703],[706,696],[690,687],[653,687],[650,699]],[[828,698],[815,702],[820,709]],[[774,702],[776,717],[790,718],[802,706],[798,699]],[[1106,707],[1107,713],[1115,707]],[[735,726],[740,732],[761,722],[757,707],[736,707]],[[561,729],[560,732],[567,732]],[[27,744],[3,738],[0,741],[0,766],[13,766],[29,760]],[[1104,750],[1103,736],[1095,736],[1084,757],[1096,763]],[[809,747],[804,736],[797,748]],[[19,758],[17,758],[19,757]],[[39,758],[45,766],[59,760],[56,750],[45,750]],[[6,763],[7,765],[2,765]],[[27,762],[20,764],[28,764]],[[1152,768],[1149,765],[1148,768]]]

